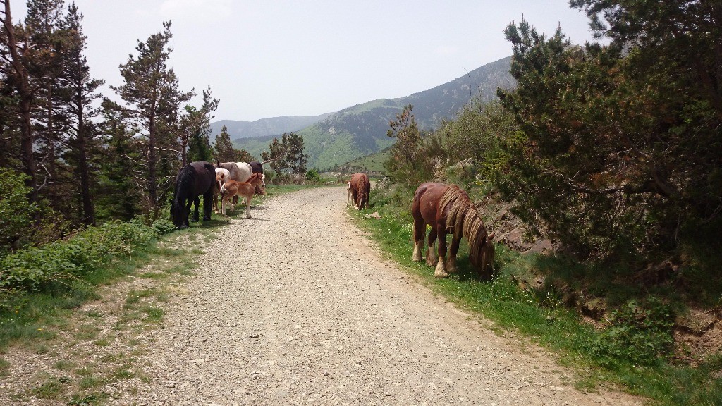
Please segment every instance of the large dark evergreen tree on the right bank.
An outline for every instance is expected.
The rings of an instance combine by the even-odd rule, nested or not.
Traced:
[[[720,223],[722,114],[716,93],[696,84],[718,67],[691,62],[709,60],[699,37],[718,27],[681,28],[677,38],[644,27],[683,27],[675,12],[705,7],[630,6],[620,18],[610,2],[585,3],[616,27],[605,31],[609,46],[571,46],[561,30],[547,39],[527,22],[505,32],[518,88],[499,95],[522,133],[500,188],[525,220],[584,256],[674,249],[680,231]]]

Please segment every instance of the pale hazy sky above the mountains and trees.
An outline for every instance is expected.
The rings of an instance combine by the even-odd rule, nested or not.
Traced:
[[[11,1],[17,22],[25,1]],[[522,15],[547,35],[561,25],[573,43],[591,40],[586,15],[568,0],[75,3],[91,74],[109,85],[121,84],[118,65],[136,54],[136,40],[170,20],[169,64],[181,90],[210,85],[220,100],[212,121],[317,116],[430,89],[509,56],[503,31]]]

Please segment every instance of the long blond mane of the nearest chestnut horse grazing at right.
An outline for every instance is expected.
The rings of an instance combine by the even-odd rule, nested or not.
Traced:
[[[479,216],[474,204],[471,203],[469,195],[464,193],[456,185],[451,185],[446,189],[439,201],[439,208],[444,212],[448,207],[446,214],[446,229],[449,232],[466,236],[469,241],[469,259],[471,263],[486,269],[490,262],[493,261],[493,246],[489,238],[487,238],[487,228],[484,226],[482,217]],[[490,247],[487,247],[490,246]],[[491,250],[491,255],[488,251]],[[483,251],[483,252],[482,252]],[[479,255],[482,257],[479,258]],[[481,259],[481,262],[479,262]]]

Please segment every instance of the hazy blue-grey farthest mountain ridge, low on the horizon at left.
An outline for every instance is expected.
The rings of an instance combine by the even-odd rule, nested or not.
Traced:
[[[269,135],[283,134],[284,132],[300,131],[311,124],[331,116],[333,113],[321,114],[313,117],[273,117],[261,118],[256,121],[219,120],[211,123],[212,138],[220,134],[223,126],[228,129],[230,139],[266,137]]]

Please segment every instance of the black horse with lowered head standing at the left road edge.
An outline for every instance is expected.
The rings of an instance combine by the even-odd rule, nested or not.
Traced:
[[[203,195],[203,220],[211,220],[213,189],[216,184],[216,170],[207,162],[191,162],[181,168],[175,177],[175,196],[170,206],[173,224],[178,228],[188,227],[191,204],[196,204],[193,221],[198,221],[198,196]]]

